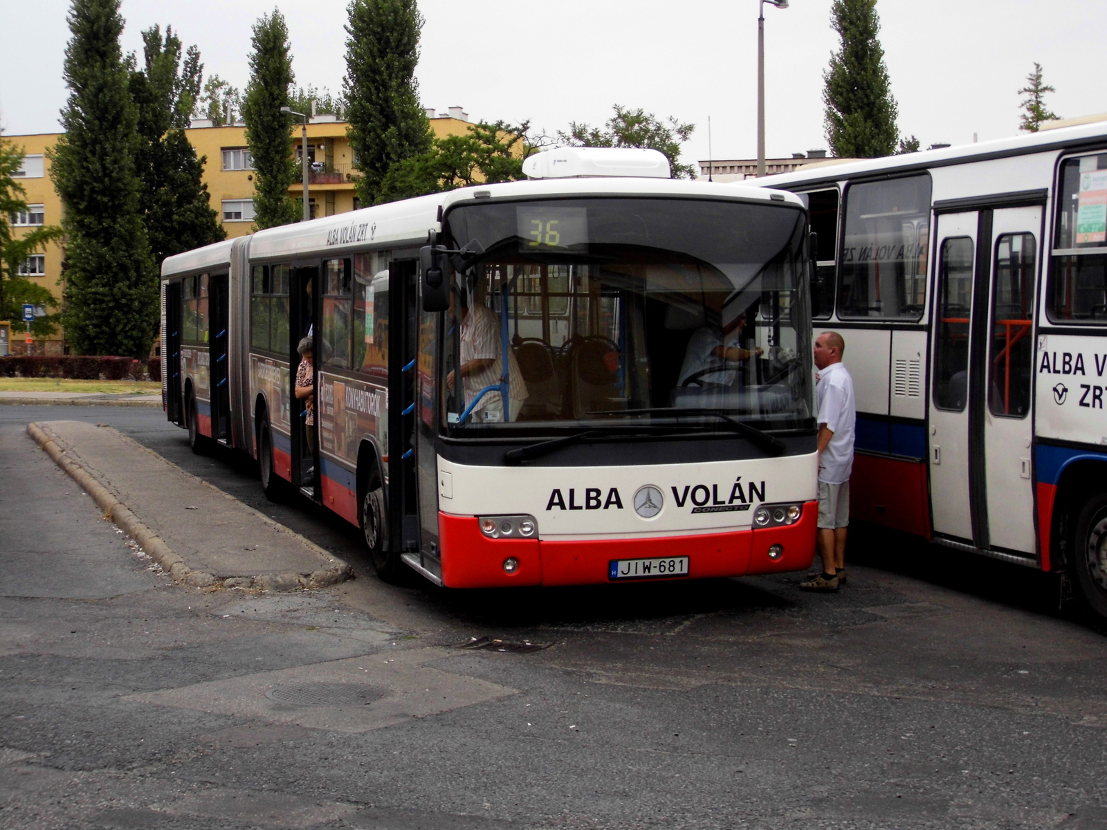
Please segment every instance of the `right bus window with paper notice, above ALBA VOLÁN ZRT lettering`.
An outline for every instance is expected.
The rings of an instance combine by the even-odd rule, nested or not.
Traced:
[[[1062,164],[1047,297],[1051,320],[1107,322],[1107,154]]]

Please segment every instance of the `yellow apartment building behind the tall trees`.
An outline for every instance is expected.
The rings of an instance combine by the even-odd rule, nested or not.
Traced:
[[[448,112],[435,113],[427,110],[431,131],[442,138],[447,135],[464,135],[469,126],[468,114],[459,106]],[[308,124],[309,204],[311,217],[332,216],[355,210],[358,198],[354,194],[353,151],[346,137],[346,122],[333,115],[317,115]],[[211,208],[217,212],[227,237],[251,234],[254,227],[254,169],[246,145],[246,125],[213,126],[209,121],[194,121],[185,131],[197,156],[206,156],[204,180],[207,183]],[[30,230],[40,225],[61,225],[64,207],[50,178],[49,151],[58,141],[58,133],[40,135],[6,135],[17,148],[27,155],[17,180],[27,191],[27,214],[13,217],[12,230]],[[292,129],[296,158],[302,159],[301,125]],[[289,195],[302,198],[303,185],[297,181],[289,188]],[[50,289],[61,299],[62,259],[64,240],[48,246],[45,251],[30,257],[21,269],[22,276]],[[33,354],[62,354],[68,351],[64,332],[59,329],[49,340],[35,340]],[[27,354],[23,330],[0,324],[0,355]]]

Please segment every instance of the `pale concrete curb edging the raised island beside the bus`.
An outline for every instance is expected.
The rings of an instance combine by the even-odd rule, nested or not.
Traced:
[[[262,591],[297,591],[303,588],[324,588],[327,585],[333,585],[338,582],[344,582],[345,580],[353,578],[353,569],[342,560],[338,559],[338,557],[328,553],[318,544],[312,543],[308,539],[304,539],[299,533],[289,530],[282,525],[272,521],[268,517],[263,517],[262,513],[246,505],[244,505],[244,507],[247,507],[247,509],[251,512],[265,518],[269,525],[281,528],[283,532],[298,538],[315,553],[338,562],[338,567],[320,569],[310,573],[266,573],[259,577],[226,577],[221,579],[207,573],[206,571],[189,568],[188,563],[185,562],[185,560],[182,559],[182,557],[174,551],[165,542],[165,540],[162,539],[162,537],[147,527],[145,522],[135,516],[130,508],[127,508],[126,505],[115,498],[115,496],[106,487],[100,484],[100,481],[97,481],[95,477],[89,473],[89,470],[70,458],[65,454],[65,450],[58,446],[54,439],[46,435],[38,424],[28,424],[27,434],[30,435],[43,450],[45,450],[46,455],[54,459],[54,463],[59,467],[61,467],[74,481],[83,487],[85,492],[92,496],[96,505],[99,505],[104,511],[105,516],[111,518],[112,521],[115,522],[121,530],[123,530],[123,532],[134,539],[142,547],[142,549],[149,554],[151,559],[157,562],[166,573],[183,585],[192,585],[194,588],[256,588]],[[146,449],[146,447],[143,447],[143,449]],[[161,458],[161,456],[157,457]],[[165,463],[172,464],[169,461]],[[176,467],[176,465],[172,466]],[[179,469],[179,467],[177,469]],[[180,471],[185,473],[185,470]],[[185,475],[190,474],[185,473]],[[196,477],[193,476],[193,478]],[[207,481],[203,481],[203,484],[211,487],[211,485],[208,485]],[[217,487],[213,487],[213,489],[226,498],[234,498],[232,496],[223,492],[223,490],[219,490]]]

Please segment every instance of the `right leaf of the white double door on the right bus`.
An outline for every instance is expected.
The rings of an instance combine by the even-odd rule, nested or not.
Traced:
[[[993,549],[1027,557],[1034,557],[1036,551],[1031,378],[1041,228],[1041,206],[992,211],[990,322],[976,330],[987,341],[986,395],[977,397],[985,409],[982,424],[989,541]],[[974,403],[977,401],[970,406]]]

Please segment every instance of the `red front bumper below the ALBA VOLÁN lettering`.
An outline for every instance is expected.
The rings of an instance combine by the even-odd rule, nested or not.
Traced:
[[[539,541],[490,539],[480,532],[476,517],[439,512],[442,580],[447,588],[600,584],[610,581],[611,560],[653,557],[689,557],[692,579],[798,571],[815,558],[817,519],[818,502],[808,501],[799,521],[787,527],[652,539]],[[773,544],[784,548],[775,560],[768,556]],[[519,563],[510,574],[504,571],[508,557]]]

